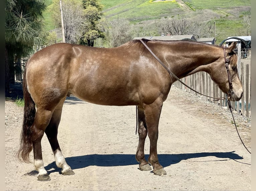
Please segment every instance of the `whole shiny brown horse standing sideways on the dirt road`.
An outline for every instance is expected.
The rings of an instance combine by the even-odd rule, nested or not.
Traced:
[[[228,100],[238,101],[243,89],[237,71],[235,47],[236,43],[226,48],[185,40],[142,39],[114,48],[68,43],[43,48],[30,57],[24,71],[25,106],[18,160],[29,163],[29,154],[33,150],[37,180],[50,180],[41,151],[41,139],[45,133],[61,173],[75,174],[57,140],[63,103],[67,96],[74,95],[94,104],[135,105],[139,136],[135,158],[139,169],[148,171],[152,166],[154,174],[166,175],[158,160],[157,139],[162,105],[176,81],[167,69],[178,79],[200,71],[207,72],[228,94]],[[227,67],[225,63],[228,63]],[[232,93],[228,76],[232,79]],[[148,160],[144,155],[146,136],[150,140]]]

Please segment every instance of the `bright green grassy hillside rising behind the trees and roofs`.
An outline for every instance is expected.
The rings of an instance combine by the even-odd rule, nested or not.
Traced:
[[[44,13],[47,30],[55,29],[50,12]],[[200,22],[216,22],[217,44],[229,36],[241,36],[243,16],[251,13],[251,0],[100,0],[108,19],[125,18],[131,24],[152,25],[176,15]]]

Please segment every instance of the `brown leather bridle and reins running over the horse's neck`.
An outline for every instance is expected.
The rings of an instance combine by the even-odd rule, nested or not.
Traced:
[[[155,57],[155,59],[165,68],[165,70],[169,73],[170,77],[171,75],[177,80],[179,81],[181,84],[183,84],[185,87],[189,88],[190,90],[198,93],[198,94],[201,94],[199,92],[197,92],[196,90],[193,90],[192,88],[190,88],[189,86],[187,86],[185,83],[183,83],[178,77],[176,77],[163,63],[162,61],[160,61],[160,59],[150,50],[150,48],[140,39],[140,42],[147,48],[147,50]],[[231,79],[231,76],[230,76],[230,73],[229,73],[229,68],[228,68],[228,63],[229,63],[229,59],[226,59],[226,54],[225,54],[225,49],[224,50],[224,59],[225,59],[225,66],[226,66],[226,69],[227,69],[227,72],[228,72],[228,78],[229,78],[229,86],[230,86],[230,91],[229,91],[229,95],[232,96],[233,94],[233,87],[232,87],[232,79]],[[201,95],[204,95],[204,94],[201,94]],[[220,100],[220,99],[226,99],[226,97],[211,97],[211,96],[208,96],[208,95],[204,95],[206,97],[210,97],[210,98],[213,98],[215,99],[216,101]],[[239,135],[239,132],[237,130],[237,126],[236,126],[236,122],[235,122],[235,118],[234,118],[234,115],[233,115],[233,112],[232,112],[232,106],[231,106],[231,103],[230,103],[230,100],[228,100],[228,105],[229,105],[229,109],[230,109],[230,112],[232,114],[232,118],[233,118],[233,121],[234,121],[234,124],[235,124],[235,127],[236,127],[236,131],[237,131],[237,134],[242,142],[242,144],[244,145],[244,147],[246,148],[246,150],[251,154],[251,152],[247,149],[247,147],[245,146],[243,140],[241,139],[240,135]],[[136,118],[137,118],[137,121],[136,121],[136,132],[135,134],[137,133],[137,126],[138,126],[138,113],[137,113],[137,105],[136,105]]]

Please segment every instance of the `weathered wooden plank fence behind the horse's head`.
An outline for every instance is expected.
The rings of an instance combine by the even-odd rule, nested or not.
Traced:
[[[250,114],[250,110],[251,110],[251,106],[250,106],[251,78],[249,78],[251,76],[251,70],[249,70],[249,67],[250,67],[249,64],[244,65],[244,63],[241,62],[240,65],[241,65],[241,67],[238,67],[238,68],[240,70],[239,74],[241,74],[241,75],[239,75],[239,76],[241,77],[240,80],[243,85],[244,94],[240,101],[231,101],[231,104],[233,107],[233,111],[236,111],[234,113],[243,115],[247,119],[251,119],[251,114]],[[213,82],[210,75],[207,74],[206,72],[195,73],[193,75],[182,78],[181,81],[184,84],[191,87],[192,89],[200,92],[201,94],[208,95],[211,97],[226,97],[226,94],[224,94],[219,89],[218,85],[215,84],[215,82]],[[179,89],[186,90],[190,94],[199,95],[198,93],[195,93],[194,91],[188,89],[187,87],[185,87],[178,81],[174,82],[174,86]],[[200,95],[200,96],[202,96],[202,95]],[[227,98],[226,98],[226,100],[215,101],[212,98],[209,98],[206,96],[203,96],[203,97],[205,98],[206,101],[213,102],[220,106],[225,106],[225,107],[228,106]],[[227,107],[227,109],[229,109],[229,108]]]

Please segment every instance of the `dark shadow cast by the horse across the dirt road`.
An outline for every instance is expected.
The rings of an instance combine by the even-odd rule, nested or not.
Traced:
[[[170,166],[172,164],[179,163],[181,160],[191,159],[191,158],[201,158],[208,156],[215,156],[219,159],[213,160],[195,160],[195,162],[205,162],[205,161],[226,161],[226,160],[237,160],[243,159],[243,157],[238,154],[231,152],[201,152],[201,153],[184,153],[184,154],[158,154],[159,162],[163,167]],[[145,158],[148,158],[148,154],[145,155]],[[135,154],[90,154],[83,156],[73,156],[66,158],[67,163],[70,167],[75,169],[85,168],[88,166],[128,166],[139,164],[135,160]],[[52,169],[53,168],[53,169]],[[48,174],[52,172],[59,172],[55,164],[55,161],[45,166]]]

